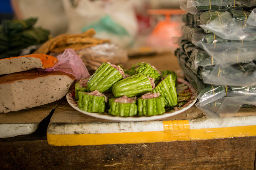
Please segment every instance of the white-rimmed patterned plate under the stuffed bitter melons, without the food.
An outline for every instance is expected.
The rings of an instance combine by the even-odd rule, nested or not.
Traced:
[[[197,93],[195,89],[189,84],[187,81],[178,78],[178,86],[176,87],[177,96],[178,96],[178,105],[174,108],[170,108],[166,110],[166,112],[162,115],[154,115],[154,116],[132,116],[132,117],[120,117],[120,116],[112,116],[106,113],[90,113],[84,110],[80,110],[77,107],[77,101],[75,100],[75,90],[71,89],[67,93],[67,101],[70,106],[72,106],[75,110],[78,110],[81,113],[86,115],[107,119],[107,120],[117,120],[117,121],[145,121],[145,120],[157,120],[162,118],[167,118],[173,115],[177,115],[179,113],[184,112],[189,109],[191,106],[195,104],[197,101]]]

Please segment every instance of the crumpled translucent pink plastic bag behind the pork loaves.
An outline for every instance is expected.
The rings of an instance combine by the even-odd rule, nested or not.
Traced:
[[[73,49],[66,49],[63,54],[58,55],[56,58],[58,59],[58,62],[53,67],[44,69],[44,71],[62,71],[72,74],[74,77],[76,77],[77,81],[79,81],[81,78],[85,79],[90,76],[82,59],[77,55],[76,52],[74,52]]]

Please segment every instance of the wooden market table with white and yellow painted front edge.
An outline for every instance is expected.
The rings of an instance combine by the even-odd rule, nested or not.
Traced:
[[[176,58],[169,54],[134,58],[125,67],[140,61],[162,70],[179,70]],[[35,132],[0,139],[0,169],[255,169],[255,107],[240,109],[230,126],[220,127],[195,106],[169,118],[127,126],[127,122],[84,115],[69,106],[66,97],[50,105],[50,111],[33,109],[34,115],[42,111],[45,115]],[[24,114],[26,110],[15,113],[17,118]],[[5,115],[0,123],[21,123],[15,115]],[[163,130],[144,128],[152,125]],[[136,127],[144,130],[137,132]],[[70,129],[72,134],[67,133]],[[56,137],[57,143],[50,135],[64,138]]]

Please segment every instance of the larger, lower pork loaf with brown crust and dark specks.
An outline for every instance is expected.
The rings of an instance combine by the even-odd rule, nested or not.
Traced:
[[[29,70],[0,77],[0,113],[32,108],[61,99],[75,81],[61,71]]]

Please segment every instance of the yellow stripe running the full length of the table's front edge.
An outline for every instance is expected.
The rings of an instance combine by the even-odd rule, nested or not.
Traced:
[[[168,124],[170,125],[170,122],[167,123],[167,126]],[[175,128],[181,127],[179,126],[179,124],[175,124],[175,126]],[[184,127],[187,128],[186,125]],[[169,129],[169,127],[165,127],[165,129],[167,128]],[[207,140],[229,137],[256,136],[256,125],[191,130],[185,128],[182,130],[165,130],[154,132],[126,132],[99,134],[52,135],[47,133],[47,141],[49,144],[55,146],[77,146],[100,144],[170,142],[177,140]]]

